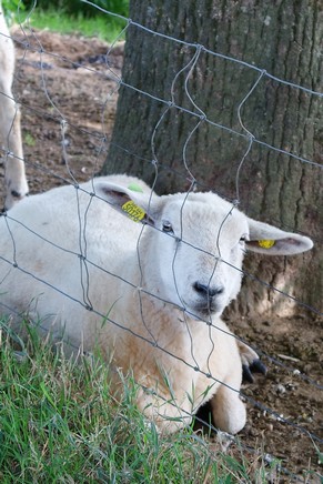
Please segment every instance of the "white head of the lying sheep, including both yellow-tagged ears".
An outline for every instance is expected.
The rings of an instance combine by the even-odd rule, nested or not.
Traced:
[[[210,192],[158,196],[101,183],[97,193],[144,224],[138,242],[144,288],[198,319],[220,315],[236,298],[246,250],[289,255],[313,246],[309,238],[250,219]]]

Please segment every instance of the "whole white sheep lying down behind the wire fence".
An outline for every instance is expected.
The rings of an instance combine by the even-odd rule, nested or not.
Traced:
[[[214,193],[158,196],[125,175],[33,195],[0,218],[0,311],[40,322],[67,352],[99,349],[140,384],[137,402],[173,432],[210,401],[215,425],[245,424],[242,361],[221,320],[246,250],[297,254],[305,236],[244,215]],[[6,310],[4,310],[6,309]]]

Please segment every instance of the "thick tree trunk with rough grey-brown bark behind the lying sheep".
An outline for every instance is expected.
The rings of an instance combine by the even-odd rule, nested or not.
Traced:
[[[129,26],[102,173],[127,172],[152,183],[158,172],[159,193],[186,190],[195,179],[199,189],[239,199],[250,216],[309,234],[316,242],[310,253],[285,259],[252,254],[245,269],[322,311],[323,102],[309,91],[322,92],[320,0],[130,4],[133,22],[183,42]],[[246,278],[231,307],[244,316],[294,310],[291,299],[253,278]]]

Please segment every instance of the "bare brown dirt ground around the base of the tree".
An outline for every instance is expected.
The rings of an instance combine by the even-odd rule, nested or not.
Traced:
[[[22,105],[31,193],[46,191],[64,180],[90,179],[100,170],[109,147],[122,46],[113,48],[108,59],[109,47],[95,39],[46,31],[29,33],[27,38],[19,29],[13,36],[17,39],[14,93]],[[2,167],[0,170],[2,178]],[[2,199],[3,191],[0,195]],[[323,438],[322,323],[300,316],[243,321],[234,327],[240,336],[283,364],[263,356],[268,375],[256,376],[253,384],[243,387],[263,409],[248,402],[242,450],[252,447],[262,450],[262,456],[279,457],[282,466],[296,474],[300,482],[305,482],[302,473],[310,468],[321,473],[321,478],[317,474],[310,475],[306,482],[323,480],[323,464],[319,463],[314,448],[316,444],[322,452],[322,442],[306,435],[310,432]],[[314,382],[320,382],[321,389]],[[253,455],[245,448],[243,452]],[[292,476],[282,473],[275,482],[292,481]]]

